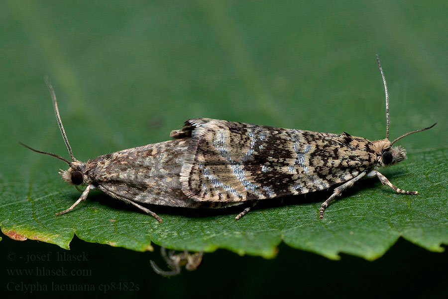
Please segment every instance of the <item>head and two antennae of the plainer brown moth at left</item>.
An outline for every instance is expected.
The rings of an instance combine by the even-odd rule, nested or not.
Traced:
[[[67,160],[66,158],[63,158],[57,154],[51,153],[51,152],[47,152],[47,151],[42,151],[42,150],[37,150],[37,149],[32,149],[22,143],[20,143],[22,146],[24,146],[25,148],[31,149],[35,152],[38,153],[44,153],[44,154],[48,154],[51,156],[54,156],[60,160],[63,160],[64,162],[66,162],[67,164],[69,164],[69,169],[67,170],[62,170],[60,169],[59,174],[62,176],[62,179],[65,180],[66,182],[73,184],[73,185],[81,185],[81,184],[85,184],[85,183],[89,183],[89,178],[86,174],[86,164],[78,161],[75,156],[73,155],[72,152],[72,148],[70,147],[70,144],[68,142],[67,136],[65,134],[65,130],[64,127],[62,126],[62,121],[61,121],[61,117],[59,116],[59,110],[58,110],[58,104],[56,102],[56,95],[54,94],[54,90],[53,87],[51,86],[50,82],[48,81],[48,78],[45,77],[45,82],[48,85],[48,88],[50,89],[50,94],[51,94],[51,98],[53,100],[53,107],[54,107],[54,112],[56,114],[56,119],[58,121],[58,125],[59,125],[59,129],[61,130],[62,133],[62,137],[64,138],[65,141],[65,145],[67,146],[67,149],[70,153],[70,156],[72,158],[72,161],[70,162],[69,160]]]

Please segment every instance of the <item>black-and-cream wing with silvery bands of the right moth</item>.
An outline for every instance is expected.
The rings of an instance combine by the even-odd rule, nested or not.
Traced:
[[[186,128],[186,129],[185,129]],[[198,201],[235,202],[302,194],[371,168],[371,142],[341,135],[193,119],[182,191]]]

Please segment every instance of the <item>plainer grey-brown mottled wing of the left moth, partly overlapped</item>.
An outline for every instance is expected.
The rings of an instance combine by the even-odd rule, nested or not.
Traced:
[[[166,141],[99,156],[88,162],[91,165],[88,175],[94,185],[103,186],[115,198],[194,206],[195,201],[182,193],[179,181],[189,141],[189,138]]]

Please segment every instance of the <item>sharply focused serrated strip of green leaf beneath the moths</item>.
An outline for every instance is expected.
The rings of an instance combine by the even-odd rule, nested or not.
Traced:
[[[239,221],[234,220],[235,209],[212,216],[194,210],[181,210],[184,215],[176,215],[178,209],[170,209],[171,214],[159,213],[163,223],[158,223],[105,195],[91,195],[74,211],[55,217],[55,212],[73,203],[75,192],[49,184],[31,186],[28,196],[20,196],[26,186],[5,184],[1,190],[1,229],[67,249],[76,234],[88,242],[137,251],[152,250],[154,242],[178,250],[226,248],[265,258],[274,257],[283,241],[331,259],[344,252],[373,260],[400,236],[428,250],[443,251],[440,245],[448,243],[447,152],[415,152],[406,163],[385,172],[397,186],[419,190],[420,195],[397,194],[376,179],[363,180],[331,204],[323,220],[318,220],[319,202],[292,203],[300,202],[303,196],[288,198],[292,200],[287,205],[256,209]],[[322,201],[326,195],[318,192],[306,199]]]

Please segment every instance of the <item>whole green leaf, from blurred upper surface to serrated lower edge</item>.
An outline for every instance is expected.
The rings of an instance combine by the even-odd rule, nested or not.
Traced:
[[[339,252],[375,259],[400,236],[442,251],[448,68],[440,62],[448,40],[441,5],[3,1],[1,230],[62,248],[76,234],[137,251],[154,242],[267,258],[283,241],[332,259]],[[344,192],[321,221],[318,208],[329,192],[261,203],[239,221],[239,207],[151,207],[164,220],[159,224],[96,191],[55,217],[80,195],[57,174],[66,165],[18,145],[68,156],[45,75],[74,154],[84,161],[165,141],[195,117],[382,139],[376,53],[389,88],[391,138],[439,122],[401,140],[409,159],[384,170],[418,196],[396,194],[373,178]]]

